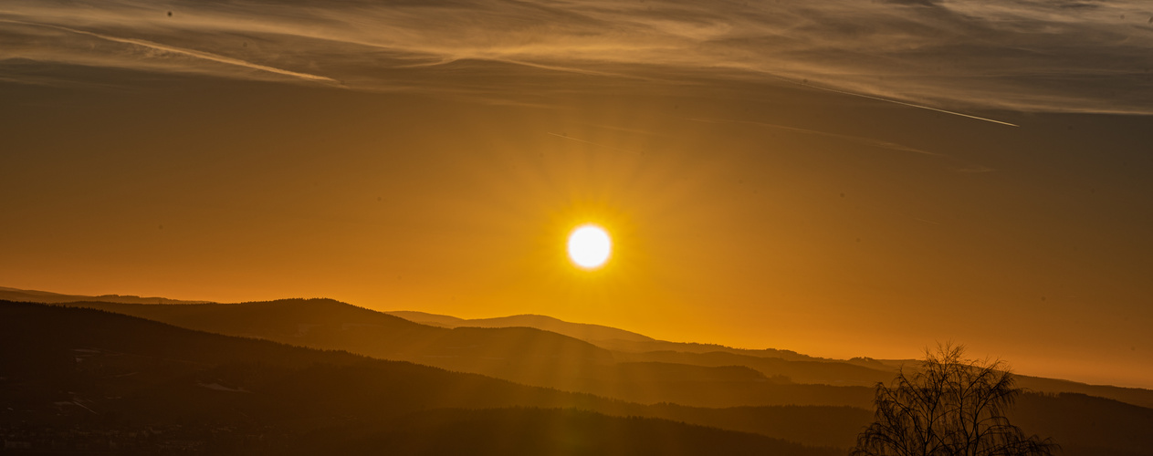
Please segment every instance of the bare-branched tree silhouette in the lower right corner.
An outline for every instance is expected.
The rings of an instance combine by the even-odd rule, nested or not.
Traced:
[[[1001,362],[964,359],[963,345],[926,350],[920,368],[876,385],[876,421],[852,456],[1052,455],[1060,446],[1025,436],[1005,413],[1022,389]]]

